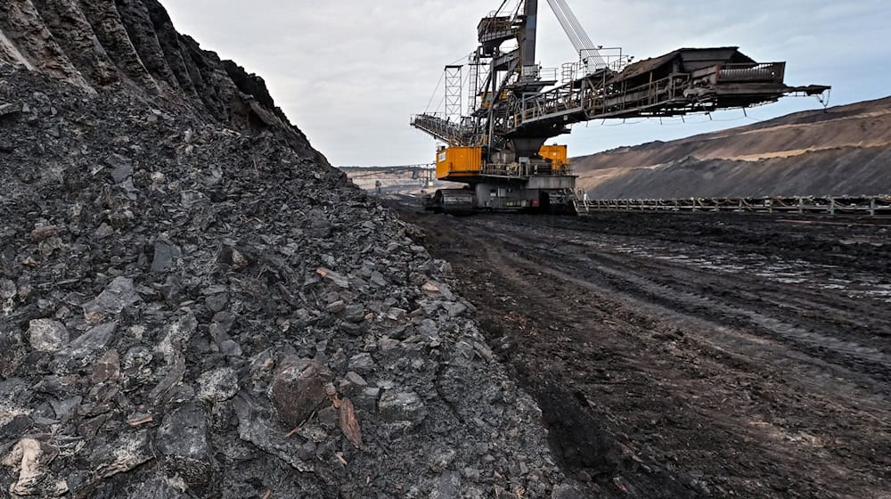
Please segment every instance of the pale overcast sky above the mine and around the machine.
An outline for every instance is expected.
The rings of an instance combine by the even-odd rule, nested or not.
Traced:
[[[161,0],[176,28],[266,79],[276,102],[331,164],[432,161],[435,142],[409,127],[412,114],[442,100],[443,67],[476,46],[479,19],[497,0]],[[514,4],[516,0],[509,0]],[[547,2],[539,8],[538,59],[575,61]],[[621,46],[638,60],[680,47],[739,45],[756,61],[788,61],[790,85],[833,86],[831,104],[891,94],[891,3],[887,0],[568,0],[596,45]],[[710,120],[576,125],[573,156],[670,140],[797,110],[787,98]]]

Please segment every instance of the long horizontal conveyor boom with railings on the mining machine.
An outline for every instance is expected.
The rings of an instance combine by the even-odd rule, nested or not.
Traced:
[[[621,71],[600,70],[550,90],[499,102],[486,120],[416,115],[412,126],[450,145],[556,136],[593,119],[659,118],[822,95],[829,86],[787,86],[785,62],[757,62],[737,47],[685,48]],[[512,94],[511,94],[512,95]]]

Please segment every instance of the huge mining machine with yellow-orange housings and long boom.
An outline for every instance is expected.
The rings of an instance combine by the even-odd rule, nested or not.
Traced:
[[[830,90],[787,86],[785,62],[757,62],[732,46],[682,48],[635,62],[621,49],[593,45],[565,0],[548,4],[579,59],[546,70],[535,62],[538,1],[505,10],[507,4],[479,21],[467,64],[446,66],[446,112],[412,117],[413,127],[445,144],[437,147],[437,179],[466,184],[437,191],[428,209],[575,213],[567,148],[546,144],[573,124],[747,108],[786,95],[822,98]]]

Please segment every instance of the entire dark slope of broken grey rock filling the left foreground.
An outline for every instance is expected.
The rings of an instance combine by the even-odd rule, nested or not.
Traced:
[[[0,496],[578,497],[414,230],[157,2],[0,4]]]

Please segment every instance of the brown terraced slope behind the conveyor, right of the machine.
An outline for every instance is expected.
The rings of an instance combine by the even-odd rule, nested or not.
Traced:
[[[594,199],[891,193],[891,97],[576,158]]]

